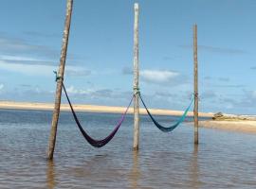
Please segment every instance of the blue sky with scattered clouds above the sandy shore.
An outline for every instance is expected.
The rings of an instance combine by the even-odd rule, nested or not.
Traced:
[[[64,75],[73,103],[128,104],[136,2],[139,88],[148,107],[182,111],[190,103],[197,24],[199,111],[256,114],[254,0],[75,0]],[[0,100],[54,102],[65,6],[1,1]]]

